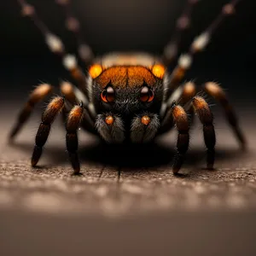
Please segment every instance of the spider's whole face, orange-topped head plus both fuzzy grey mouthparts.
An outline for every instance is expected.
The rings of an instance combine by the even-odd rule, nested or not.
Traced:
[[[94,73],[98,65],[90,67],[90,73]],[[154,137],[160,124],[160,108],[163,102],[163,79],[164,67],[154,65],[145,67],[139,65],[119,65],[102,68],[102,73],[91,80],[91,102],[95,108],[96,130],[109,143],[122,143],[130,140],[134,143],[142,143]],[[92,77],[92,75],[91,75]],[[113,124],[104,125],[106,117],[111,116]],[[150,119],[147,136],[137,137],[137,119]],[[144,121],[145,123],[146,121]],[[149,124],[149,123],[148,123]],[[148,125],[147,124],[147,125]],[[115,130],[109,125],[114,125]],[[154,126],[153,126],[154,125]],[[108,130],[108,135],[106,134]],[[131,128],[134,129],[131,129]],[[149,131],[150,130],[150,131]]]

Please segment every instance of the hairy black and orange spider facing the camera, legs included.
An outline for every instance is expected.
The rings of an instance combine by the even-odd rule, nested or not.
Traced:
[[[177,174],[189,148],[189,128],[197,114],[207,148],[207,168],[213,168],[216,137],[212,111],[206,100],[196,94],[195,83],[183,83],[183,77],[191,66],[194,55],[206,48],[221,21],[234,14],[238,0],[224,5],[217,19],[195,38],[188,53],[178,56],[177,66],[172,73],[167,71],[167,67],[177,55],[180,33],[189,26],[191,10],[199,0],[188,1],[177,20],[176,34],[166,45],[163,55],[158,58],[147,53],[112,53],[95,58],[90,46],[81,40],[79,20],[71,12],[70,1],[56,0],[67,11],[67,29],[78,37],[79,58],[86,63],[88,73],[84,73],[79,67],[74,55],[67,55],[61,39],[50,32],[38,18],[34,7],[25,0],[18,2],[22,15],[34,21],[43,33],[49,49],[61,55],[64,66],[76,81],[75,85],[62,82],[62,96],[55,96],[44,110],[35,139],[32,166],[38,164],[55,117],[58,113],[63,113],[66,119],[67,153],[74,174],[80,173],[79,127],[99,135],[107,143],[149,143],[154,137],[176,127],[177,153],[172,171]],[[11,140],[25,124],[35,105],[43,101],[52,90],[51,85],[40,84],[32,91],[10,132]],[[222,105],[230,127],[241,147],[245,147],[245,137],[224,90],[213,82],[204,84],[201,90]]]

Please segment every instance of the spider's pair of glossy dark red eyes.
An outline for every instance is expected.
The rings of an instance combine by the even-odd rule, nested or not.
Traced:
[[[112,86],[108,86],[104,90],[102,90],[101,98],[103,102],[114,102],[115,100],[115,92],[113,90]],[[152,102],[154,99],[154,91],[148,86],[143,86],[141,92],[140,92],[140,101],[141,102]]]

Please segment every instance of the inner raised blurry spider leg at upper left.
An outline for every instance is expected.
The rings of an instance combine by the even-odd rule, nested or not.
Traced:
[[[86,65],[90,64],[93,60],[93,53],[88,44],[84,43],[84,38],[80,30],[80,22],[73,15],[72,9],[70,7],[70,0],[55,0],[56,3],[61,5],[66,14],[66,27],[67,30],[73,32],[76,37],[78,44],[79,57]]]

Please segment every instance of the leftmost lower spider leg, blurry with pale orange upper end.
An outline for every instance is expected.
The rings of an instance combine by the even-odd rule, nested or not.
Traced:
[[[18,132],[21,130],[22,126],[26,123],[27,119],[30,117],[33,108],[38,102],[44,100],[46,96],[49,95],[53,90],[53,87],[49,84],[40,84],[34,90],[32,90],[25,106],[21,109],[16,124],[12,128],[9,134],[9,140],[12,141]]]

